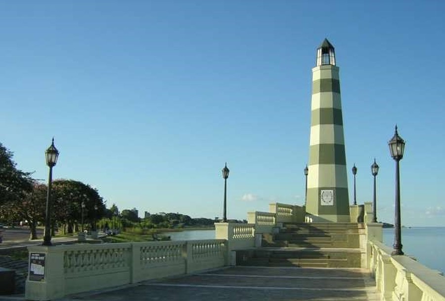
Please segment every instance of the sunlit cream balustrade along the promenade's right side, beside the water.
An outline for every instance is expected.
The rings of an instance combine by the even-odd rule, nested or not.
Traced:
[[[445,277],[439,271],[403,255],[378,241],[370,245],[371,274],[384,301],[445,301]],[[427,246],[425,246],[427,247]]]

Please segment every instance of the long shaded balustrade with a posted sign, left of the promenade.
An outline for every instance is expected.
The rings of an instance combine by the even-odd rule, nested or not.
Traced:
[[[248,227],[236,235],[248,236]],[[27,300],[116,287],[227,265],[223,239],[30,246]],[[38,261],[31,258],[38,258]],[[32,263],[32,264],[31,264]]]

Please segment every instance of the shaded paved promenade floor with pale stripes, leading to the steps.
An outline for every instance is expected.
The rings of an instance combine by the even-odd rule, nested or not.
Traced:
[[[14,300],[18,299],[18,296],[15,296]],[[83,293],[60,301],[62,300],[377,301],[380,299],[376,293],[374,280],[364,269],[236,266],[145,281],[112,290]]]

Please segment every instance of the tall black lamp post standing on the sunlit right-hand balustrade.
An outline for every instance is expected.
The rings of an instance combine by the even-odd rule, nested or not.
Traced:
[[[393,255],[403,255],[402,244],[401,244],[401,216],[400,216],[400,172],[399,172],[399,161],[403,158],[403,151],[405,149],[405,142],[396,132],[388,142],[388,146],[391,151],[391,156],[396,160],[396,214],[395,214],[395,237],[394,237],[394,251],[391,253]]]

